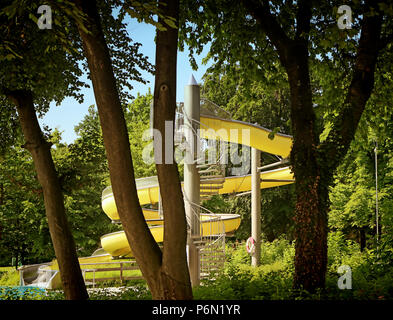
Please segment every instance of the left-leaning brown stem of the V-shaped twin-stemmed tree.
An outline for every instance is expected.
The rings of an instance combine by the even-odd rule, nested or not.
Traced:
[[[170,267],[172,263],[176,265],[178,260],[171,261],[173,255],[165,253],[165,267],[162,268],[163,254],[146,224],[139,204],[127,126],[96,2],[78,0],[76,4],[87,16],[86,27],[89,33],[86,33],[80,26],[79,33],[87,57],[100,116],[112,190],[127,240],[149,285],[153,299],[183,299],[185,298],[184,289],[178,289],[178,287],[186,283],[184,276],[173,271],[178,270],[176,267],[173,269]],[[168,200],[164,200],[167,209]],[[178,232],[177,229],[169,231]],[[179,246],[179,244],[172,243],[170,245],[174,245],[175,250]]]

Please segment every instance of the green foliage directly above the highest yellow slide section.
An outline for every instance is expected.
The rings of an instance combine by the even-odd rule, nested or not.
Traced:
[[[266,73],[265,81],[249,79],[237,70],[234,66],[221,74],[206,73],[202,96],[229,111],[233,119],[273,129],[270,138],[290,133],[289,88],[282,70]]]

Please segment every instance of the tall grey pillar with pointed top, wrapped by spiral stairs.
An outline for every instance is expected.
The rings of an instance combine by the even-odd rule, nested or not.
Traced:
[[[192,238],[200,234],[199,207],[192,205],[192,203],[197,205],[200,203],[199,173],[195,163],[198,154],[197,148],[199,147],[199,137],[196,136],[196,133],[199,129],[200,120],[200,88],[193,76],[191,76],[184,89],[184,113],[184,126],[187,130],[186,141],[191,146],[190,149],[187,148],[185,154],[184,204],[187,220],[190,222]],[[200,283],[199,250],[191,238],[188,239],[188,267],[192,286],[198,286]]]

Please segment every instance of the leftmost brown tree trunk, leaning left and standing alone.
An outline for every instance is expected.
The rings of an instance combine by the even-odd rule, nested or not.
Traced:
[[[88,299],[50,144],[45,140],[38,124],[32,94],[28,91],[13,91],[8,96],[16,104],[26,140],[24,147],[31,153],[38,181],[42,186],[49,231],[59,264],[65,297],[69,300]]]

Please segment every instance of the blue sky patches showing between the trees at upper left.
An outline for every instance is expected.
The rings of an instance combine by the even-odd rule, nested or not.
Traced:
[[[134,42],[142,44],[140,51],[149,58],[150,63],[155,62],[155,28],[145,23],[138,23],[135,19],[131,19],[128,23],[128,31]],[[209,65],[202,65],[201,60],[206,56],[208,48],[206,48],[200,56],[196,56],[198,63],[198,70],[194,71],[188,60],[188,50],[185,48],[184,52],[178,52],[177,57],[177,101],[183,101],[184,86],[188,83],[190,75],[193,74],[198,82],[201,82],[203,74],[206,72]],[[137,93],[145,94],[149,88],[154,92],[154,77],[151,74],[143,73],[143,77],[149,81],[148,84],[133,82],[134,89],[131,91],[133,96]],[[86,80],[86,75],[83,77]],[[89,82],[88,82],[89,83]],[[62,139],[66,143],[72,143],[76,139],[74,131],[77,125],[87,114],[88,107],[95,105],[94,93],[91,83],[89,89],[84,89],[84,102],[79,104],[73,98],[64,99],[60,106],[54,103],[50,110],[42,119],[39,119],[41,126],[43,124],[50,128],[58,128],[62,132]]]

